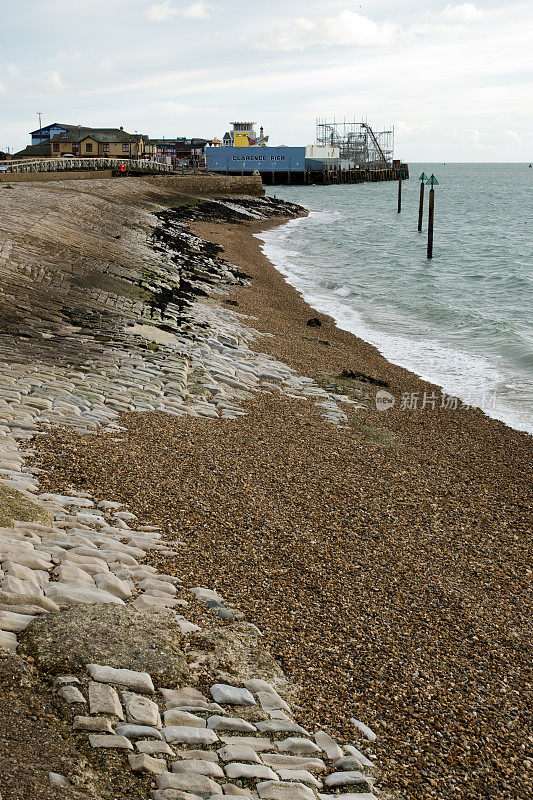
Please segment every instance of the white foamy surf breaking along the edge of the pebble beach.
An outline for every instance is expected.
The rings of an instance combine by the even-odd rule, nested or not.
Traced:
[[[380,311],[372,304],[369,293],[366,297],[357,295],[353,291],[353,280],[352,287],[340,280],[335,281],[331,269],[327,275],[324,274],[319,259],[304,257],[305,252],[312,253],[312,249],[308,249],[309,233],[313,238],[317,227],[322,231],[325,222],[331,225],[332,220],[339,221],[341,217],[339,212],[315,210],[307,218],[292,220],[256,236],[263,242],[265,255],[286,280],[301,292],[309,305],[331,316],[339,328],[373,344],[389,361],[441,386],[446,394],[482,408],[488,416],[510,427],[533,434],[533,420],[527,417],[524,407],[527,381],[519,375],[509,374],[503,363],[505,353],[513,350],[513,333],[519,334],[519,331],[513,330],[506,319],[494,320],[483,312],[479,312],[476,318],[474,312],[464,310],[463,324],[451,331],[453,344],[445,343],[440,340],[439,326],[444,331],[452,327],[452,322],[457,325],[453,310],[446,308],[445,303],[430,310],[426,306],[428,324],[424,325],[420,319],[409,319],[409,312],[413,309],[408,297],[407,300],[395,298],[397,305],[394,308],[389,305],[382,310],[383,321],[387,320],[389,330],[376,324]],[[295,247],[295,233],[301,238],[298,242],[300,247]],[[423,298],[423,293],[418,296]],[[429,295],[423,299],[431,302]],[[404,308],[401,308],[402,300],[405,301]],[[372,320],[367,318],[368,313],[372,313]],[[396,314],[396,317],[391,319],[391,314]],[[390,331],[391,322],[394,323],[394,332]],[[488,323],[486,329],[484,323]],[[487,337],[484,355],[461,346],[467,341],[469,331],[475,328],[482,330]],[[518,341],[514,345],[517,355],[522,353],[521,344],[523,342]],[[495,357],[491,358],[489,354]]]

